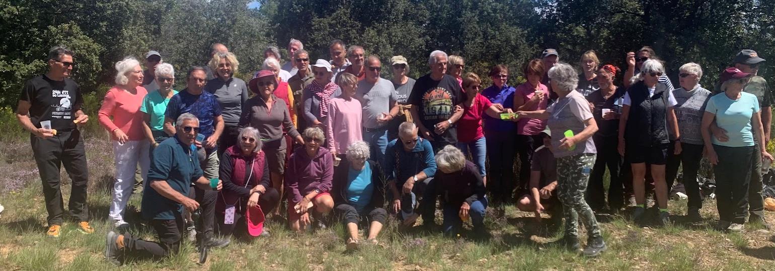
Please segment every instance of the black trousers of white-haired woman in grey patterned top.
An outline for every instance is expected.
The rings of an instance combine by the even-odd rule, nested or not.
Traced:
[[[697,183],[697,172],[700,170],[700,160],[702,160],[702,150],[704,146],[697,144],[688,144],[681,142],[681,153],[673,154],[675,142],[670,142],[667,147],[667,165],[665,166],[665,180],[667,181],[667,193],[670,194],[670,187],[678,175],[678,166],[684,165],[684,177],[681,183],[684,183],[686,195],[689,197],[687,203],[690,209],[702,208],[702,197],[700,195],[700,185]]]

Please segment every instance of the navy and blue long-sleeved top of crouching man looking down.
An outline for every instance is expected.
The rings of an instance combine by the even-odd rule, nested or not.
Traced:
[[[436,156],[433,154],[431,142],[418,137],[418,142],[411,152],[404,149],[404,143],[398,139],[387,143],[385,150],[385,179],[395,180],[396,186],[404,185],[404,182],[413,175],[425,173],[426,177],[436,174]]]

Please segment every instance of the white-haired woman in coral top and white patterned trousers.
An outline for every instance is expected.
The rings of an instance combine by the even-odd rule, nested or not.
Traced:
[[[109,216],[116,227],[127,225],[124,209],[132,195],[137,164],[146,179],[150,163],[149,143],[143,134],[143,114],[140,105],[147,94],[143,84],[143,68],[133,57],[115,63],[115,86],[102,101],[99,123],[111,134],[115,153],[115,184]],[[111,119],[112,118],[112,119]]]

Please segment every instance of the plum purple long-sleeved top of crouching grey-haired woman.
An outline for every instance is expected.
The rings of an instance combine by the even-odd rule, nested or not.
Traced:
[[[328,149],[320,148],[315,157],[307,155],[305,148],[298,148],[288,160],[285,170],[285,191],[288,201],[301,202],[301,197],[319,190],[331,190],[334,178],[334,159]]]

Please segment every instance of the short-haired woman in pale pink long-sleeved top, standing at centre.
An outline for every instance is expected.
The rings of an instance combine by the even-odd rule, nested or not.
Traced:
[[[360,101],[353,98],[358,84],[358,77],[344,73],[336,78],[336,84],[342,88],[342,94],[332,98],[329,103],[329,123],[326,125],[326,136],[331,154],[345,160],[347,146],[363,140],[361,134],[361,119],[363,108]]]

